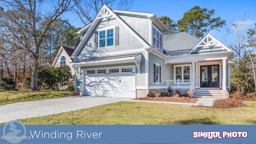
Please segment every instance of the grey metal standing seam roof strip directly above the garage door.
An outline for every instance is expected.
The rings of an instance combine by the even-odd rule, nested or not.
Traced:
[[[106,56],[106,57],[101,57],[101,58],[88,58],[88,59],[84,59],[84,60],[76,60],[75,62],[72,63],[77,63],[77,62],[92,62],[92,61],[98,61],[98,60],[112,60],[112,59],[116,59],[116,58],[129,58],[129,57],[133,57],[133,56],[138,56],[139,54],[125,54],[125,55],[118,55],[118,56]]]

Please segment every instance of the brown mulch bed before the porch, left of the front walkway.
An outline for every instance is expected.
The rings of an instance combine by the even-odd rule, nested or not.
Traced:
[[[198,101],[196,98],[188,98],[184,96],[180,97],[144,97],[144,98],[136,98],[134,100],[151,100],[151,101],[162,101],[162,102],[186,102],[186,103],[195,103]]]

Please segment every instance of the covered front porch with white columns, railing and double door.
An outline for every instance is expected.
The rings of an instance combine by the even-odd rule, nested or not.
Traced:
[[[173,79],[166,80],[166,87],[190,91],[229,89],[231,64],[226,59],[172,63],[173,72],[170,74]]]

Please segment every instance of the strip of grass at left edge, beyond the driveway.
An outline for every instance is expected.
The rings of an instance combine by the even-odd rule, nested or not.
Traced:
[[[43,100],[50,98],[66,97],[64,93],[67,91],[42,91],[42,92],[21,92],[21,91],[6,91],[0,92],[0,106],[14,102],[24,102],[31,100]]]

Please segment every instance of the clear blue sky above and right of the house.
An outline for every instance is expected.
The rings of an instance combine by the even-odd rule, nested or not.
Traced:
[[[245,32],[248,28],[253,28],[256,23],[256,0],[134,0],[134,5],[130,11],[154,13],[158,18],[168,16],[177,22],[183,17],[184,12],[194,6],[215,10],[213,18],[220,17],[222,20],[226,20],[226,26],[220,28],[220,31],[212,30],[209,32],[224,44],[235,42],[235,34],[228,33],[227,28],[234,28],[232,23],[238,22],[245,13],[248,17],[244,20]],[[118,7],[114,5],[112,9],[118,9]],[[76,16],[70,15],[68,19],[70,19],[70,24],[76,28],[84,27],[84,24]]]

